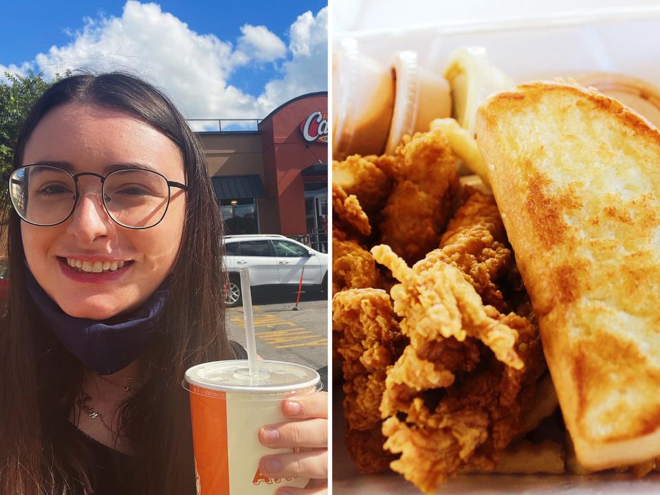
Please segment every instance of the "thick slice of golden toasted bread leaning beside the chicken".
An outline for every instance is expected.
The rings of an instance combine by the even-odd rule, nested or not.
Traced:
[[[660,132],[593,89],[487,100],[478,147],[577,458],[660,455]]]

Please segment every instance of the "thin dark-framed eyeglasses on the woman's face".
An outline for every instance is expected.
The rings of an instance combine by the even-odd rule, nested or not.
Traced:
[[[188,190],[143,168],[116,170],[105,177],[92,172],[72,175],[49,165],[27,165],[12,172],[9,195],[19,217],[32,225],[50,227],[66,221],[76,208],[78,177],[101,180],[101,198],[108,216],[122,227],[146,229],[157,225],[170,204],[170,187]]]

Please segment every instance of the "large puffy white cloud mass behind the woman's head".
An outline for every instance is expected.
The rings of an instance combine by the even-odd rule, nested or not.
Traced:
[[[162,87],[187,118],[263,118],[276,106],[309,91],[327,89],[327,8],[305,12],[292,23],[288,46],[266,26],[245,24],[234,46],[199,34],[156,3],[129,0],[121,17],[84,19],[67,45],[38,54],[29,67],[45,76],[66,69],[126,70]],[[230,83],[251,64],[274,64],[261,94]],[[3,66],[0,66],[2,69]]]

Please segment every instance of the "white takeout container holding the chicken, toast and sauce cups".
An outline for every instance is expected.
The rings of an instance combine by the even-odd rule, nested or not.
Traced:
[[[393,13],[395,14],[395,13]],[[420,16],[423,16],[420,12]],[[428,18],[425,19],[428,21]],[[660,85],[660,5],[630,10],[602,10],[545,19],[533,17],[478,25],[439,25],[392,32],[346,32],[364,54],[387,63],[400,50],[415,50],[419,63],[442,74],[451,54],[462,46],[482,46],[489,62],[516,83],[569,78],[585,72],[613,72]],[[340,395],[339,393],[337,394]],[[418,494],[398,474],[360,474],[344,445],[341,397],[333,403],[333,493],[364,495]],[[636,480],[630,474],[591,476],[459,476],[438,494],[657,494],[660,474]]]

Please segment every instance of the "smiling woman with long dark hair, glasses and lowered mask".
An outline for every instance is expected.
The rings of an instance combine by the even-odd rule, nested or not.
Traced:
[[[195,136],[138,78],[72,76],[34,105],[13,165],[0,494],[195,493],[181,379],[245,356],[225,333],[222,222]],[[302,421],[261,442],[316,450],[262,472],[326,478],[325,395],[283,410]]]

